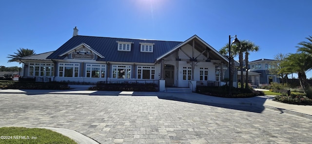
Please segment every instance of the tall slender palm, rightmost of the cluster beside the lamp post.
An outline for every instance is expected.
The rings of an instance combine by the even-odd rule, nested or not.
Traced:
[[[249,89],[249,86],[248,86],[248,56],[249,56],[249,53],[250,52],[257,52],[259,51],[259,46],[255,45],[254,42],[251,42],[249,40],[247,40],[245,42],[245,44],[243,45],[243,49],[244,49],[244,52],[245,52],[245,62],[246,62],[246,84],[245,84],[245,89]]]

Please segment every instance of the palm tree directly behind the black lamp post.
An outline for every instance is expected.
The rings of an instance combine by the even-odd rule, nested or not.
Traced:
[[[234,57],[238,54],[239,50],[237,45],[233,45],[231,46],[231,57],[229,58],[229,44],[227,43],[225,46],[223,46],[220,50],[219,53],[222,54],[223,56],[229,58],[229,62],[231,62],[232,66],[231,70],[229,70],[230,74],[231,74],[231,79],[229,79],[229,83],[230,86],[233,86],[233,76],[234,76],[234,71],[235,71],[235,67],[234,67]]]

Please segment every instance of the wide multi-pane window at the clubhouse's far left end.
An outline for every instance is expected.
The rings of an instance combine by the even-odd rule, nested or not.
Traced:
[[[54,64],[51,63],[29,63],[29,76],[53,76]]]

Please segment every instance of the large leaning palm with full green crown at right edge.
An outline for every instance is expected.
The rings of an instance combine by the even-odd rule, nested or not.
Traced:
[[[289,54],[281,62],[282,69],[279,73],[297,73],[302,90],[309,88],[306,72],[312,68],[312,55],[304,52]]]

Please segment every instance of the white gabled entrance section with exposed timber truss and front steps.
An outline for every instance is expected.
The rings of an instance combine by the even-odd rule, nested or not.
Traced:
[[[161,71],[160,91],[169,87],[195,91],[198,85],[221,86],[228,76],[228,59],[196,35],[158,57],[155,65]]]

